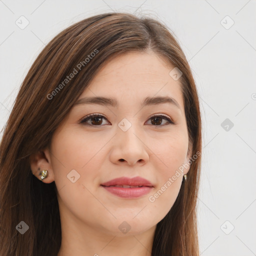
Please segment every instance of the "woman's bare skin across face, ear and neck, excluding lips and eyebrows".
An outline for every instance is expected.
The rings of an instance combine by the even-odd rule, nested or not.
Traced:
[[[38,167],[47,169],[48,176],[42,182],[55,181],[58,190],[62,240],[57,256],[151,255],[156,224],[172,207],[189,167],[155,201],[149,196],[191,156],[181,84],[169,75],[173,67],[152,52],[129,52],[110,59],[79,99],[112,97],[119,106],[73,106],[54,132],[50,148],[31,159],[37,178]],[[171,103],[140,106],[146,96],[166,95],[180,108]],[[94,126],[79,123],[91,113],[106,119],[101,118],[101,123],[87,120]],[[162,118],[157,125],[150,118],[153,114],[166,114],[175,124]],[[118,126],[123,118],[131,123],[126,131]],[[80,175],[74,183],[67,178],[72,169]],[[100,186],[121,176],[141,176],[154,188],[130,199]],[[127,233],[118,228],[123,221],[130,226]]]

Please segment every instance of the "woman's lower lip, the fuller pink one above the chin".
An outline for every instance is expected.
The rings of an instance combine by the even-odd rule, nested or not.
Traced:
[[[116,186],[102,186],[108,192],[115,194],[123,198],[137,198],[142,195],[145,195],[151,191],[153,187],[141,186],[141,187],[116,187]]]

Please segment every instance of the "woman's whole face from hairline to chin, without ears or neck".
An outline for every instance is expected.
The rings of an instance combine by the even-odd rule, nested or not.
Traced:
[[[153,53],[125,53],[106,62],[82,92],[50,147],[63,219],[121,236],[154,228],[170,210],[188,171],[177,170],[190,156],[181,84],[169,75],[173,68]],[[112,98],[116,105],[86,103],[88,97]],[[173,101],[143,105],[150,97]],[[96,116],[85,119],[89,114]],[[119,177],[150,183],[102,185]]]

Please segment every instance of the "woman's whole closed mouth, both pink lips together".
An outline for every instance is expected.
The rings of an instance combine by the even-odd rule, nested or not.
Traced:
[[[122,198],[138,198],[149,193],[154,187],[150,181],[139,176],[133,178],[114,178],[100,185],[108,192]],[[114,185],[130,185],[141,187],[116,187]]]

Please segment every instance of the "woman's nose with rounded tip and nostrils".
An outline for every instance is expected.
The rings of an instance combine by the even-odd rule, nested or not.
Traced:
[[[116,135],[112,142],[110,160],[115,164],[144,165],[148,159],[148,146],[145,144],[142,131],[138,131],[135,125],[123,131],[117,127]]]

